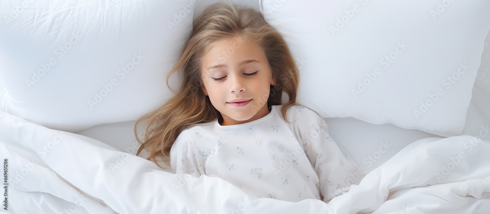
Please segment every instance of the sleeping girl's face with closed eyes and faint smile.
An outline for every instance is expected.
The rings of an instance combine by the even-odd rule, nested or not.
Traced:
[[[226,40],[202,58],[203,91],[221,113],[221,125],[236,125],[269,114],[267,99],[275,85],[269,62],[260,46],[250,41]],[[234,99],[250,100],[245,106]]]

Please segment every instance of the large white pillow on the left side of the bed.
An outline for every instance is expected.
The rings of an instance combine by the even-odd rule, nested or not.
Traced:
[[[195,5],[0,1],[0,110],[70,132],[140,118],[172,95]]]

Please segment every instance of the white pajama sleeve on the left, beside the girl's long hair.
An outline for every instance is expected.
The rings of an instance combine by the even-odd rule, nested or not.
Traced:
[[[204,175],[204,170],[196,157],[192,140],[186,130],[182,131],[170,149],[170,165],[175,174]]]

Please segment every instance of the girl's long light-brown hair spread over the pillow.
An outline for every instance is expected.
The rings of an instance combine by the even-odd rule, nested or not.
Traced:
[[[267,22],[259,11],[232,2],[218,2],[206,7],[193,23],[193,31],[184,44],[179,59],[167,76],[169,78],[181,68],[181,89],[167,102],[138,119],[134,127],[136,140],[141,144],[136,155],[145,149],[157,165],[156,156],[169,164],[170,149],[182,130],[199,123],[222,121],[221,114],[202,91],[200,63],[203,55],[213,45],[230,38],[243,38],[256,42],[264,50],[272,76],[276,82],[270,86],[268,108],[280,105],[282,92],[289,101],[281,108],[286,119],[286,110],[296,103],[299,73],[291,52],[282,36]],[[175,93],[172,90],[173,93]],[[291,123],[286,119],[288,123]],[[143,142],[137,135],[139,125],[146,127]],[[162,166],[158,165],[163,168]]]

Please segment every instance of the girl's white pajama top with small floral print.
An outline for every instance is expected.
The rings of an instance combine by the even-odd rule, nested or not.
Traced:
[[[324,202],[359,184],[364,172],[304,106],[271,106],[263,118],[222,126],[215,120],[184,129],[171,149],[174,173],[220,177],[252,198]],[[298,140],[299,139],[299,140]]]

